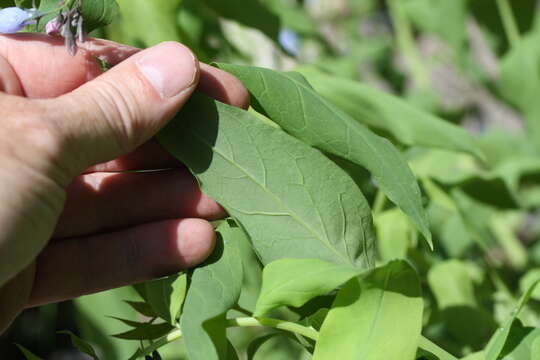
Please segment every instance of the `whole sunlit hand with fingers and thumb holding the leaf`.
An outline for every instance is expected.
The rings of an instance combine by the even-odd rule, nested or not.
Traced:
[[[96,57],[114,68],[102,73]],[[161,62],[156,85],[141,69]],[[224,211],[153,140],[195,89],[248,106],[236,78],[178,43],[140,51],[92,39],[71,57],[60,39],[0,36],[0,333],[26,307],[210,254],[207,220]],[[156,169],[168,170],[125,172]]]

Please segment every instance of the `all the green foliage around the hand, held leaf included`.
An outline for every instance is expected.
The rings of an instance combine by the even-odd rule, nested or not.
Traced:
[[[535,1],[117,3],[96,35],[182,41],[252,107],[196,94],[159,134],[230,218],[200,267],[77,300],[81,351],[540,358]]]

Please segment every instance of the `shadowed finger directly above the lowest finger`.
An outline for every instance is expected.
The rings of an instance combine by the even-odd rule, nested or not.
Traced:
[[[55,237],[72,237],[166,219],[225,215],[185,168],[148,173],[93,173],[68,187]]]

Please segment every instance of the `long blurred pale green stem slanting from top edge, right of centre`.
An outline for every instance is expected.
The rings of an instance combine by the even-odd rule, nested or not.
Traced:
[[[429,73],[416,48],[411,24],[403,8],[402,0],[387,0],[387,4],[395,28],[398,46],[405,56],[405,61],[411,71],[415,85],[421,89],[427,89],[429,87]]]

